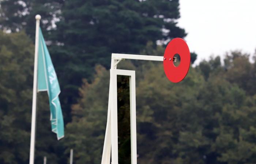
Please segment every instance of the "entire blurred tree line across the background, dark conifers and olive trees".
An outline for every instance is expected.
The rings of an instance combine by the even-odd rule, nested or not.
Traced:
[[[39,94],[35,163],[101,161],[112,52],[163,55],[166,41],[186,36],[178,0],[44,0],[0,2],[0,163],[29,158],[36,14],[61,86],[65,137],[50,130]],[[163,30],[165,29],[165,30]],[[10,33],[11,32],[11,33]],[[161,45],[156,43],[160,42]],[[192,62],[196,54],[192,53]],[[136,70],[138,163],[256,163],[256,64],[231,51],[191,67],[173,84],[162,63],[129,60]],[[129,163],[129,83],[118,77],[120,163]]]

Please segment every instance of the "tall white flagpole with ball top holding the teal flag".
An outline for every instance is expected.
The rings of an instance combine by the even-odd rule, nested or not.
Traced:
[[[39,42],[39,24],[40,15],[35,16],[35,60],[34,60],[34,82],[33,82],[33,101],[32,101],[32,118],[31,118],[31,138],[30,138],[30,156],[29,164],[34,164],[35,155],[35,124],[37,113],[37,69],[38,69],[38,42]]]

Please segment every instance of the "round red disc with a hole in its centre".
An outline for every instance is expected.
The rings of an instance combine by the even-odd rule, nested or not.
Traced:
[[[173,64],[175,54],[180,55],[180,65]],[[181,38],[174,38],[165,48],[163,55],[163,69],[167,78],[174,83],[182,81],[190,66],[190,52],[187,43]]]

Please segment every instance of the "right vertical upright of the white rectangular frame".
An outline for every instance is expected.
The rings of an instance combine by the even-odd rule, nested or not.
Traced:
[[[135,72],[130,76],[131,162],[137,164]]]

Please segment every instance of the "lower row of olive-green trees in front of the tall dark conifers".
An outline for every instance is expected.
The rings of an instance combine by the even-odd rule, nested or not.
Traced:
[[[0,43],[0,162],[25,164],[29,160],[34,46],[24,32],[1,33]],[[141,54],[163,51],[148,42]],[[184,81],[174,84],[165,77],[162,63],[122,61],[118,68],[136,70],[138,163],[255,163],[255,66],[248,54],[232,51],[224,64],[219,56],[204,60],[190,68]],[[95,72],[91,82],[83,80],[61,141],[50,132],[47,95],[38,95],[37,163],[43,156],[50,163],[68,163],[71,148],[76,164],[100,163],[109,71],[98,65]],[[127,80],[118,77],[120,163],[130,160]]]

